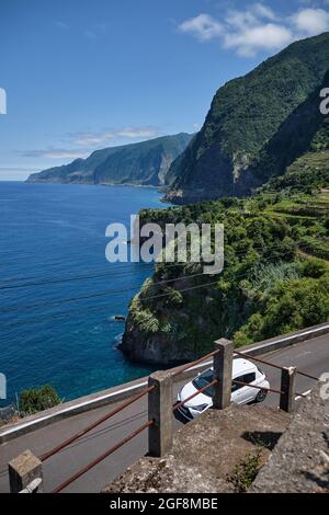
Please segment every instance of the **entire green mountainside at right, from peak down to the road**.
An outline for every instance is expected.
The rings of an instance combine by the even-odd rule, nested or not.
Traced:
[[[319,111],[328,69],[322,34],[217,92],[167,174],[168,197],[190,204],[139,215],[162,230],[224,224],[224,270],[206,276],[198,263],[158,263],[129,306],[128,358],[172,365],[218,337],[240,346],[328,320],[329,116]]]

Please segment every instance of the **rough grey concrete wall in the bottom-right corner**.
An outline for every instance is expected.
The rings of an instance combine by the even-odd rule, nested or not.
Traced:
[[[329,402],[318,384],[299,405],[252,493],[329,493]]]

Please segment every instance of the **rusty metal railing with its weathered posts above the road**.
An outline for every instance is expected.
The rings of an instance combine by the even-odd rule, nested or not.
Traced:
[[[239,381],[237,379],[232,379],[232,362],[234,356],[239,355],[247,359],[251,359],[254,362],[262,363],[264,365],[271,366],[275,369],[281,369],[281,389],[276,390],[273,388],[261,388],[257,385],[251,385],[248,382]],[[177,402],[172,404],[172,381],[173,377],[184,373],[189,368],[193,368],[195,365],[198,365],[202,362],[205,362],[209,357],[213,358],[213,375],[214,379],[205,387],[198,389],[195,393],[188,397],[184,401]],[[59,445],[50,449],[49,451],[42,455],[39,458],[36,458],[30,453],[31,457],[31,469],[29,474],[29,479],[33,478],[33,473],[35,471],[35,478],[31,483],[29,483],[22,491],[24,493],[31,493],[32,491],[37,491],[39,485],[39,471],[42,470],[42,464],[49,459],[50,457],[55,456],[57,453],[72,444],[73,442],[78,440],[93,428],[98,427],[103,422],[107,421],[109,419],[115,416],[116,414],[121,413],[123,410],[132,405],[134,402],[138,401],[139,399],[148,396],[148,420],[129,435],[125,436],[118,443],[113,445],[110,449],[107,449],[103,455],[95,458],[93,461],[88,464],[82,469],[78,470],[75,474],[70,478],[63,481],[59,485],[57,485],[53,493],[59,493],[64,491],[67,487],[69,487],[72,482],[78,480],[81,476],[90,471],[105,458],[113,455],[116,450],[124,447],[128,442],[133,438],[141,434],[145,430],[148,430],[148,448],[149,455],[155,457],[160,457],[171,450],[172,446],[172,412],[179,410],[183,404],[192,400],[194,397],[198,396],[200,393],[206,391],[209,388],[214,388],[213,393],[213,408],[214,409],[225,409],[231,402],[231,386],[232,384],[239,386],[247,386],[251,388],[256,388],[258,390],[264,390],[268,392],[280,394],[280,408],[291,412],[294,410],[294,401],[295,401],[295,378],[298,371],[296,368],[290,367],[281,367],[276,364],[266,362],[264,359],[253,357],[250,355],[246,355],[238,351],[234,351],[232,342],[227,340],[218,340],[215,342],[215,350],[196,359],[193,363],[182,366],[174,373],[172,371],[158,371],[154,373],[149,376],[148,387],[145,388],[141,392],[133,398],[128,399],[127,401],[123,402],[120,407],[112,410],[110,413],[106,413],[104,416],[98,419],[92,424],[88,425],[80,432],[76,433],[71,437],[67,438],[66,440],[61,442]],[[299,371],[300,375],[306,376],[310,379],[317,379],[314,376]],[[305,397],[304,394],[296,393],[299,397]],[[20,457],[19,457],[20,458]],[[18,464],[20,459],[16,458],[10,464],[10,473],[11,473],[11,484],[22,484],[24,481],[20,476],[19,466],[15,468],[13,465],[14,461]],[[26,456],[25,456],[26,458]],[[26,459],[24,461],[24,467],[26,469]],[[24,469],[24,470],[25,470]]]

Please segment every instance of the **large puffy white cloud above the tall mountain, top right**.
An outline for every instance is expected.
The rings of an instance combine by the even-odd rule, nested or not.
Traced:
[[[258,2],[245,10],[228,10],[220,21],[200,14],[181,23],[179,30],[200,41],[218,39],[224,48],[253,57],[259,52],[277,52],[293,41],[329,31],[329,12],[307,8],[282,18]]]

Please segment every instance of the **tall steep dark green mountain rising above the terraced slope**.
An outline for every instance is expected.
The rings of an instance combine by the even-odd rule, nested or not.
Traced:
[[[201,131],[168,172],[167,198],[246,196],[285,173],[315,136],[315,99],[328,69],[325,33],[290,45],[220,88]]]

